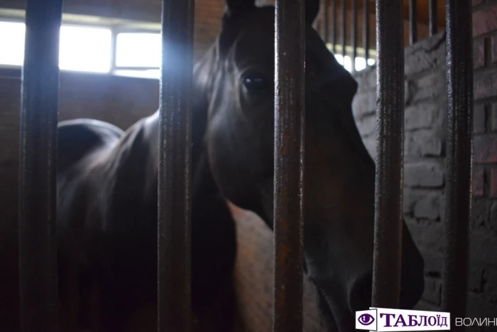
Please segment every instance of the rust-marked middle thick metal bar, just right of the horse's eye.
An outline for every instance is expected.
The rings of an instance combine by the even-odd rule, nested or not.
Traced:
[[[304,0],[275,1],[273,331],[302,331]]]

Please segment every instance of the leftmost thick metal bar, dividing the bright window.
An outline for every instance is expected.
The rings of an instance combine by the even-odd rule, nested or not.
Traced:
[[[26,0],[19,156],[21,331],[58,331],[56,164],[62,0]]]

